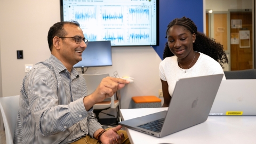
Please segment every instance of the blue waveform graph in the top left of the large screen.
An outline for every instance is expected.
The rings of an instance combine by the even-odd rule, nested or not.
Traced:
[[[97,25],[96,6],[74,6],[75,20],[82,26]]]

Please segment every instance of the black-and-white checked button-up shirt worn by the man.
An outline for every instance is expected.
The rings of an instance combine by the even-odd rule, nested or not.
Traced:
[[[102,128],[93,109],[85,110],[83,76],[71,73],[53,55],[24,77],[15,127],[15,143],[70,143]]]

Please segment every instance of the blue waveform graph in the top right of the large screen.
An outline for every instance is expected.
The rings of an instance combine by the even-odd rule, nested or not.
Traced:
[[[150,24],[150,6],[129,6],[127,11],[130,25]]]

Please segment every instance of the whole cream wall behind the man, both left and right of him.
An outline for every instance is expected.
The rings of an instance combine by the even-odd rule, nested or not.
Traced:
[[[59,0],[0,1],[0,79],[3,97],[19,94],[25,64],[35,64],[50,57],[47,45],[49,28],[60,21]],[[17,59],[23,50],[23,59]],[[150,46],[113,47],[113,66],[89,68],[86,74],[109,73],[134,77],[134,83],[121,90],[121,108],[131,108],[134,95],[158,95],[162,89],[158,77],[161,59]],[[1,85],[0,85],[1,86]],[[0,87],[1,90],[1,87]]]

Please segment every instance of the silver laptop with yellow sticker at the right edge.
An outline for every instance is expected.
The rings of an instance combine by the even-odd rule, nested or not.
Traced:
[[[209,115],[255,116],[256,79],[228,79],[220,84]]]

